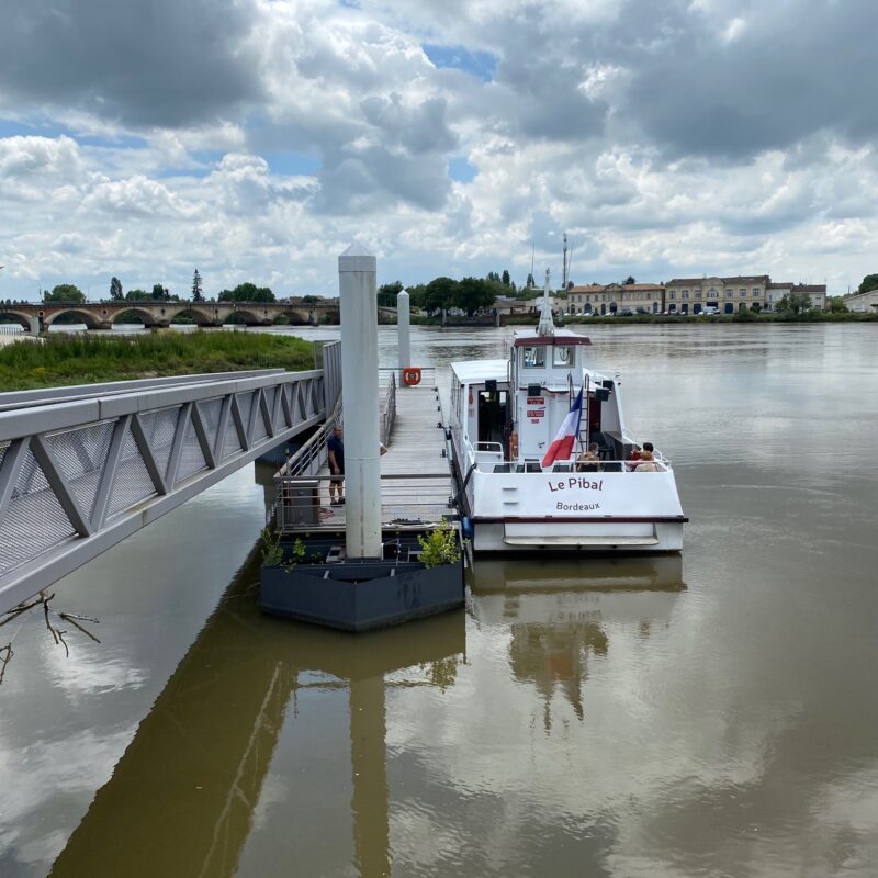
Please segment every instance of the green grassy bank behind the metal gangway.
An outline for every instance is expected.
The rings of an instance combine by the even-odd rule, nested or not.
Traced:
[[[313,369],[312,344],[258,333],[59,334],[0,349],[0,392],[270,368]]]

